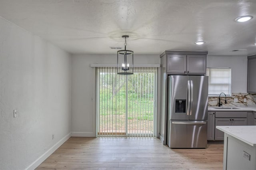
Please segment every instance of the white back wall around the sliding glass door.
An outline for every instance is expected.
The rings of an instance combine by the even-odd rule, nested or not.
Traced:
[[[95,75],[94,68],[89,66],[92,63],[115,64],[116,55],[72,55],[72,136],[96,135],[93,105]],[[159,55],[134,55],[135,63],[160,64],[160,57]]]

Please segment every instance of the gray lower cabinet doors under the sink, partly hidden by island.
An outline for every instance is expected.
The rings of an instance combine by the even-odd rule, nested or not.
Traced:
[[[246,118],[215,118],[215,126],[246,126]],[[224,140],[224,132],[215,128],[214,140]]]

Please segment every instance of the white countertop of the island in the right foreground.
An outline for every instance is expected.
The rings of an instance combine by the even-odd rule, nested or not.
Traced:
[[[256,126],[216,126],[216,128],[251,146],[256,146]]]

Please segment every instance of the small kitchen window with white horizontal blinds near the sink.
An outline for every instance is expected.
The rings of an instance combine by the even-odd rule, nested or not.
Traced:
[[[209,96],[225,93],[231,96],[231,68],[207,68],[209,76]]]

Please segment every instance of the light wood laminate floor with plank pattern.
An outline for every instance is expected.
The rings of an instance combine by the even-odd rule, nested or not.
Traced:
[[[222,170],[223,144],[170,149],[154,137],[71,137],[37,170]]]

